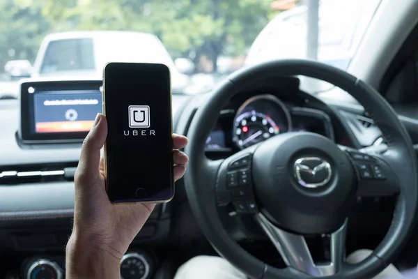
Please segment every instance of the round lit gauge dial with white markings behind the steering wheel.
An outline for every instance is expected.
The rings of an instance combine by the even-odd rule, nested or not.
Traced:
[[[267,140],[279,133],[280,127],[269,115],[255,110],[245,112],[235,119],[235,135],[238,137],[238,146],[242,148]]]

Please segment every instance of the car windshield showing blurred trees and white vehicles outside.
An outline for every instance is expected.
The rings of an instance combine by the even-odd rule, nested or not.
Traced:
[[[239,68],[273,59],[346,69],[379,3],[0,1],[0,99],[17,96],[20,78],[101,74],[108,61],[165,63],[176,93],[208,91]]]

